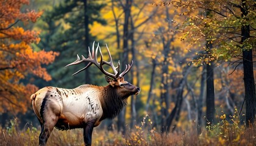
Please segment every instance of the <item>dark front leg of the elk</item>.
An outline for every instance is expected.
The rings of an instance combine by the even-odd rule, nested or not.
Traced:
[[[96,120],[91,120],[90,122],[85,124],[84,127],[84,142],[85,145],[91,145],[91,135],[93,134],[93,127]]]

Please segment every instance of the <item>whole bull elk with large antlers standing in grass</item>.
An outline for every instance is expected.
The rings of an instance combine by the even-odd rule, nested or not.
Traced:
[[[108,47],[107,52],[110,61],[102,59],[99,43],[95,51],[93,43],[92,53],[90,47],[88,50],[88,58],[82,55],[82,59],[80,59],[77,55],[77,60],[66,66],[88,63],[85,68],[73,74],[75,75],[94,64],[105,74],[105,79],[109,85],[80,85],[74,89],[46,86],[32,94],[30,97],[32,106],[41,125],[39,145],[46,145],[54,127],[59,130],[84,128],[84,143],[91,145],[93,128],[97,127],[104,119],[116,117],[126,106],[127,98],[139,94],[140,88],[124,80],[124,75],[132,68],[133,61],[131,64],[126,64],[126,69],[120,73],[120,63],[118,61],[117,67],[113,65]],[[98,50],[101,55],[100,62],[97,60]],[[113,74],[105,71],[103,65],[110,66]]]

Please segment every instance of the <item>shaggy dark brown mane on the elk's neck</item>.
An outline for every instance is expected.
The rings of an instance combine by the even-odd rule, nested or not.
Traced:
[[[103,109],[103,115],[100,120],[113,119],[118,116],[124,106],[127,105],[129,96],[118,93],[117,89],[110,85],[105,86],[100,99]]]

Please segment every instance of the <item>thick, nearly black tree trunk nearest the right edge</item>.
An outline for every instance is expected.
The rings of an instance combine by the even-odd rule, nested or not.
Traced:
[[[242,0],[241,7],[242,17],[246,16],[247,6],[246,0]],[[242,26],[241,28],[241,42],[244,43],[250,38],[249,26]],[[252,63],[252,49],[243,49],[243,69],[244,69],[244,89],[245,89],[245,102],[246,102],[246,127],[249,127],[250,123],[254,125],[256,116],[256,94],[255,94],[255,82],[254,82],[254,67]]]

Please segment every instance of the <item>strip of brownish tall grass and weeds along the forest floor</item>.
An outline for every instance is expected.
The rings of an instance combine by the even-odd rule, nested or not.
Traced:
[[[222,113],[219,122],[202,130],[197,135],[196,127],[191,130],[174,133],[158,133],[152,127],[152,120],[145,116],[139,125],[127,129],[126,134],[95,128],[93,145],[256,145],[256,130],[246,128],[235,114],[226,117]],[[16,120],[10,120],[9,127],[0,127],[0,145],[38,145],[40,129],[32,125],[20,130]],[[54,129],[48,139],[48,145],[84,145],[82,129],[59,131]]]

